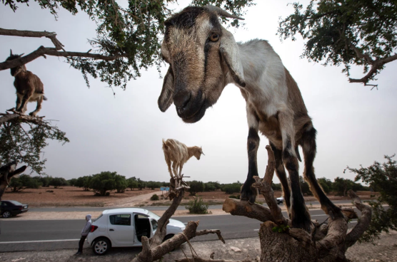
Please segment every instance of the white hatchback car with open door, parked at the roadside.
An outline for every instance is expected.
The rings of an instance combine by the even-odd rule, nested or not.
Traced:
[[[154,236],[160,216],[146,209],[107,209],[91,224],[87,241],[97,255],[111,247],[142,246],[141,237]],[[166,239],[185,229],[184,223],[169,219]]]

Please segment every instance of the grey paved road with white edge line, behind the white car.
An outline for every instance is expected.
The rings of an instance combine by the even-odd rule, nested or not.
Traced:
[[[324,221],[321,210],[310,211],[312,219]],[[284,214],[285,215],[285,214]],[[221,229],[224,239],[241,239],[258,236],[260,222],[245,216],[179,216],[184,223],[200,221],[198,229]],[[1,222],[0,251],[42,251],[76,248],[84,220],[31,220]],[[356,221],[353,221],[353,226]],[[199,236],[193,241],[215,240],[216,236]]]

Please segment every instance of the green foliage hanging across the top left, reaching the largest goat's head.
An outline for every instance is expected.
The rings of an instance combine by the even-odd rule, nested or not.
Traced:
[[[251,6],[252,1],[193,0],[191,3],[198,6],[206,4],[221,6],[232,14],[242,16],[243,8]],[[29,0],[3,0],[3,4],[11,7],[16,13],[21,4],[30,4],[31,2]],[[160,46],[165,29],[164,21],[172,11],[169,9],[169,5],[176,4],[177,1],[129,0],[125,3],[116,0],[51,0],[36,2],[42,9],[48,9],[55,17],[60,9],[66,9],[71,14],[76,14],[79,11],[84,12],[96,22],[97,28],[96,38],[89,40],[92,46],[89,52],[66,52],[63,45],[56,40],[53,41],[56,50],[41,47],[34,51],[36,53],[31,53],[34,54],[34,59],[41,55],[64,56],[67,63],[81,71],[87,85],[89,85],[87,75],[91,75],[94,78],[100,78],[110,86],[126,88],[126,83],[131,78],[141,75],[142,68],[146,69],[151,66],[159,68],[161,66]],[[227,21],[227,19],[223,19],[223,21]],[[231,21],[231,26],[238,25],[237,19]],[[4,34],[15,36],[21,32],[19,34],[6,32]],[[53,34],[46,37],[54,39],[55,36]],[[24,61],[21,58],[21,63],[27,63],[26,59]]]

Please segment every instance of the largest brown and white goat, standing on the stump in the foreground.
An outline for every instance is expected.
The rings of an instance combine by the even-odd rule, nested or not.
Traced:
[[[304,177],[322,209],[331,216],[342,216],[316,180],[316,130],[295,80],[267,41],[236,43],[233,34],[221,26],[219,16],[240,19],[216,6],[189,6],[165,22],[161,54],[170,66],[159,97],[160,110],[164,112],[174,102],[184,122],[197,122],[228,83],[236,84],[246,100],[249,128],[248,176],[241,199],[253,204],[258,194],[251,185],[253,176],[258,176],[256,154],[261,131],[275,154],[276,174],[293,227],[311,231],[299,185],[298,145],[303,148]]]

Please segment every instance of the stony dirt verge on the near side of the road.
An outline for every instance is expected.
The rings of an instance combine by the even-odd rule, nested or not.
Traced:
[[[258,238],[229,239],[226,244],[221,241],[198,241],[191,242],[194,250],[199,256],[209,258],[215,252],[215,259],[242,260],[249,254],[251,258],[260,256],[260,244]],[[77,245],[77,243],[76,243]],[[181,246],[186,256],[191,257],[189,245]],[[236,249],[237,248],[237,249]],[[0,253],[1,261],[11,262],[41,262],[41,261],[81,261],[81,262],[127,262],[131,261],[141,248],[113,248],[105,256],[96,256],[90,248],[84,248],[83,256],[73,256],[76,249],[60,249],[57,251],[26,251]],[[175,261],[184,258],[181,249],[176,249],[166,254],[162,262]],[[381,239],[372,243],[356,243],[348,249],[346,256],[352,262],[395,262],[397,261],[397,232],[383,234]]]

